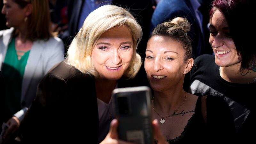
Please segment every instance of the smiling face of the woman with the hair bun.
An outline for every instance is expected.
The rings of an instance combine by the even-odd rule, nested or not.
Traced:
[[[148,40],[145,70],[154,91],[170,89],[183,84],[186,62],[182,45],[168,36],[152,36]]]

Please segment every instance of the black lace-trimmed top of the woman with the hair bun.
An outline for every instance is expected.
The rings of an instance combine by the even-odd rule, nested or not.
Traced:
[[[188,124],[180,136],[167,141],[172,144],[232,141],[235,128],[227,103],[219,97],[208,95],[206,124],[201,112],[201,96],[200,94],[196,95],[199,97],[196,102],[195,114],[188,120]]]

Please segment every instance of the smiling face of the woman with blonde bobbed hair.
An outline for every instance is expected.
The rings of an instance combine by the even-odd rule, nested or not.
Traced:
[[[100,78],[121,78],[132,61],[133,51],[132,35],[126,26],[104,32],[92,49],[93,65]]]

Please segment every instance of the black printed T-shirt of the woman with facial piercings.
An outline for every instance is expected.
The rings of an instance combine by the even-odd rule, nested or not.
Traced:
[[[204,54],[194,61],[190,73],[192,93],[211,94],[223,98],[229,105],[238,133],[238,140],[251,141],[255,128],[255,88],[256,83],[236,84],[225,81],[220,76],[220,67],[215,64],[214,56]]]

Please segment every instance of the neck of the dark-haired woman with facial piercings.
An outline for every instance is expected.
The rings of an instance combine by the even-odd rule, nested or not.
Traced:
[[[256,71],[251,68],[243,68],[239,71],[240,65],[241,63],[235,66],[220,67],[220,76],[231,83],[248,84],[255,82]]]

